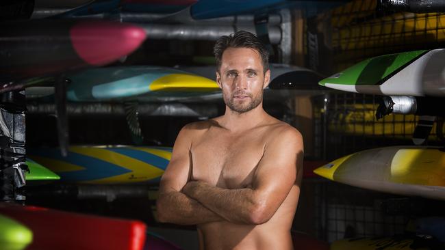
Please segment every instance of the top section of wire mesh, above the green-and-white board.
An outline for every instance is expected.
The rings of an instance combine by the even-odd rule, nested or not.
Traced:
[[[363,59],[445,44],[445,14],[395,12],[379,1],[351,1],[318,16],[325,24],[325,46],[331,51],[331,72]],[[309,55],[310,56],[310,55]],[[329,73],[329,72],[327,72]]]

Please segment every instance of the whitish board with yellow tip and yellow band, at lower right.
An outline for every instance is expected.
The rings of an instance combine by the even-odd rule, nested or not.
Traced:
[[[443,148],[394,146],[338,158],[314,173],[363,189],[445,200]]]

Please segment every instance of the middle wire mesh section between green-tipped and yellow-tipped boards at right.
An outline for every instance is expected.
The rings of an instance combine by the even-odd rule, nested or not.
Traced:
[[[417,115],[390,114],[377,120],[380,96],[337,92],[313,98],[317,156],[334,160],[370,148],[414,145]],[[428,145],[442,145],[433,124]]]

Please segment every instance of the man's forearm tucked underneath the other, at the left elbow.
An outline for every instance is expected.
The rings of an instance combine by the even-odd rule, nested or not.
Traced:
[[[177,191],[161,194],[156,206],[158,220],[164,223],[197,225],[223,220],[195,199]]]

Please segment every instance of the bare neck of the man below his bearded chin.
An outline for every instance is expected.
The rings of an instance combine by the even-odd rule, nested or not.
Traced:
[[[233,111],[226,105],[226,111],[222,117],[221,125],[231,132],[241,132],[255,128],[264,122],[267,116],[268,114],[264,111],[262,104],[244,113]]]

